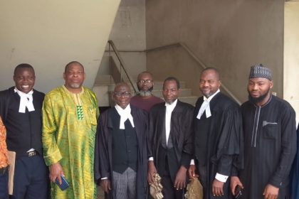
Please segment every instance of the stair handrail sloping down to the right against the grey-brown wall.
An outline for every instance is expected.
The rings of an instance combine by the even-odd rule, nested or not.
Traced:
[[[201,60],[199,60],[199,58],[196,57],[196,55],[192,52],[192,50],[190,50],[190,48],[188,48],[187,45],[185,45],[184,43],[181,43],[181,42],[172,43],[169,45],[163,45],[163,46],[159,46],[159,47],[155,47],[155,48],[150,48],[148,50],[145,50],[145,52],[166,50],[167,48],[174,48],[174,47],[182,47],[196,61],[196,63],[198,63],[201,66],[201,68],[204,68],[204,69],[207,68],[206,65]],[[231,98],[233,98],[239,105],[241,105],[240,100],[238,100],[238,98],[223,83],[221,83],[221,87],[227,92],[227,94],[229,94],[231,96]]]

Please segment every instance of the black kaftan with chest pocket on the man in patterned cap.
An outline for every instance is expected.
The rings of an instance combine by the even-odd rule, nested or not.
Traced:
[[[244,169],[239,177],[244,198],[262,199],[267,184],[279,188],[278,199],[289,197],[289,172],[296,152],[295,111],[278,97],[261,106],[241,106],[244,132]]]

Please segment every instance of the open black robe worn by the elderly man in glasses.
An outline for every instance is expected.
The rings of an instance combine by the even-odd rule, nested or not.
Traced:
[[[147,133],[148,114],[142,109],[131,107],[136,136],[137,136],[137,199],[147,197]],[[95,140],[95,181],[107,177],[112,185],[112,114],[118,114],[115,107],[107,109],[98,119],[98,128]],[[113,198],[112,190],[105,194],[105,198]]]

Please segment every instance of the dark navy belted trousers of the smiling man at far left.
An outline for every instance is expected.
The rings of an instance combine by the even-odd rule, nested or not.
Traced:
[[[47,199],[48,168],[43,156],[22,156],[16,159],[13,199]]]

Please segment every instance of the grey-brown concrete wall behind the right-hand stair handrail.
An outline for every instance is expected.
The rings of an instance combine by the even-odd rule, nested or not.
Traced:
[[[147,48],[184,42],[238,99],[247,99],[251,65],[273,70],[274,92],[283,97],[283,1],[146,1]],[[147,68],[156,79],[175,75],[199,95],[202,68],[179,48],[147,53]]]

